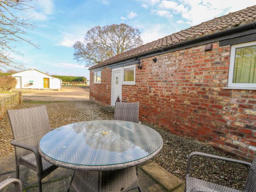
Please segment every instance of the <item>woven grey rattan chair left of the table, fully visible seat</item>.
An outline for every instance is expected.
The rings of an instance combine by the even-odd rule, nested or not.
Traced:
[[[50,122],[45,106],[7,111],[12,128],[16,158],[16,178],[19,165],[23,164],[37,172],[38,190],[42,191],[41,180],[57,166],[42,159],[38,152],[40,139],[50,131]]]

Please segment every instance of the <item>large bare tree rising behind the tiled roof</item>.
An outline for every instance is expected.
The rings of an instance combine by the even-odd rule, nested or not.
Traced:
[[[74,44],[74,59],[86,67],[142,45],[140,31],[127,24],[96,26]]]

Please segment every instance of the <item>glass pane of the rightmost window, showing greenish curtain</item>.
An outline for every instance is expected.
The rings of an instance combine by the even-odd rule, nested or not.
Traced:
[[[256,83],[256,46],[236,48],[233,83]]]

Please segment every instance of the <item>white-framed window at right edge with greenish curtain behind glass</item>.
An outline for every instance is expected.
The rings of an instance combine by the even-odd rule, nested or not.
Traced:
[[[256,42],[231,47],[228,87],[256,88]]]

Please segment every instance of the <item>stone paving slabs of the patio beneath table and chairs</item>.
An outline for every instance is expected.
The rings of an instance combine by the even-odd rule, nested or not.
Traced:
[[[9,155],[0,158],[0,182],[15,178],[15,157]],[[67,191],[72,178],[73,170],[57,168],[54,172],[42,180],[42,188],[45,192]],[[20,166],[20,180],[22,181],[24,192],[36,192],[37,180],[36,172],[25,166]],[[184,183],[176,176],[170,174],[158,164],[149,161],[140,167],[138,174],[140,187],[144,192],[183,192]],[[9,185],[3,192],[13,190],[13,185]],[[132,190],[137,192],[138,190]]]

